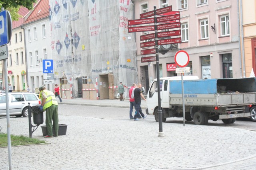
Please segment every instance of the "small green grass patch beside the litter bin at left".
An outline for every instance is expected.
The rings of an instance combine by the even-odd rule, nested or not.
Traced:
[[[12,146],[32,145],[32,144],[39,144],[39,143],[45,143],[45,141],[42,141],[40,139],[25,137],[23,135],[20,135],[20,136],[11,135]],[[8,146],[7,134],[0,133],[0,147],[7,147],[7,146]]]

